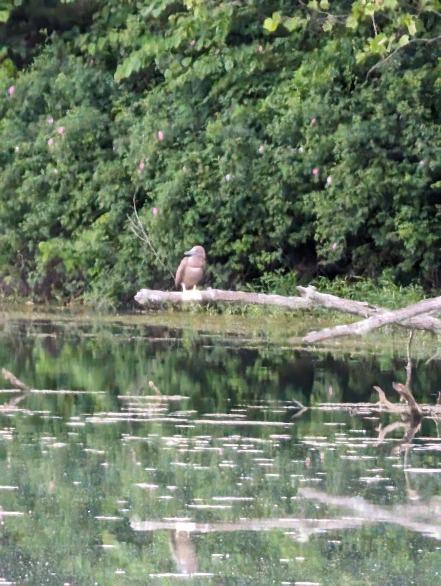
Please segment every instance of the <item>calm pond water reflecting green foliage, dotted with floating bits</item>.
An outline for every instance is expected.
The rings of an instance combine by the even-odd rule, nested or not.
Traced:
[[[0,584],[440,584],[441,424],[369,405],[401,357],[20,320],[0,356]]]

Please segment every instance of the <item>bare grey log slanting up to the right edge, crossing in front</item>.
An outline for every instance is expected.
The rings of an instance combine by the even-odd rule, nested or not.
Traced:
[[[396,311],[384,311],[379,315],[372,315],[368,319],[363,319],[360,322],[351,323],[350,325],[334,326],[333,328],[324,328],[320,332],[310,332],[307,336],[302,338],[302,342],[308,344],[314,342],[321,342],[329,338],[337,338],[338,336],[363,336],[365,333],[373,329],[381,328],[381,326],[389,323],[402,323],[415,315],[428,314],[431,311],[441,311],[441,297],[433,297],[432,299],[424,299],[413,305],[408,305],[403,309]],[[409,325],[409,327],[413,327]]]

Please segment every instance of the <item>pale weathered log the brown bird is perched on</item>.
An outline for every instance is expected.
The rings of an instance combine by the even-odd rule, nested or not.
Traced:
[[[233,303],[251,303],[258,305],[276,305],[288,309],[307,309],[313,302],[302,297],[284,297],[283,295],[265,295],[263,293],[247,293],[245,291],[223,291],[222,289],[189,289],[189,291],[154,291],[141,289],[135,295],[140,305],[161,305],[165,303],[179,304],[182,302],[227,301]]]

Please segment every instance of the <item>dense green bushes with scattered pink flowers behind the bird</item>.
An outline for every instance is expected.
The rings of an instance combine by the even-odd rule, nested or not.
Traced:
[[[3,290],[121,304],[195,243],[213,287],[439,287],[441,16],[414,4],[108,0],[15,79],[10,50]]]

